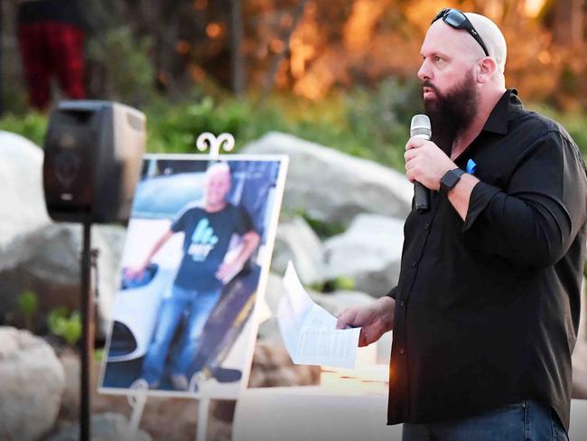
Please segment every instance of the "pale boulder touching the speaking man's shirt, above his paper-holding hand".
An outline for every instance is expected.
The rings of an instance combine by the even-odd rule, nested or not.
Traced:
[[[326,240],[329,277],[352,277],[355,289],[383,296],[397,284],[403,243],[403,220],[361,214],[349,230]]]

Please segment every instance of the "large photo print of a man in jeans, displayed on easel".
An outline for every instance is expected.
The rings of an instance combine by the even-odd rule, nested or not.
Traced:
[[[286,156],[144,156],[100,392],[238,398],[286,169]]]

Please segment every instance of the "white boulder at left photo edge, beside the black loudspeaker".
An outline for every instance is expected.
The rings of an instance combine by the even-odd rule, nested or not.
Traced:
[[[50,222],[42,192],[42,149],[0,131],[0,247]]]

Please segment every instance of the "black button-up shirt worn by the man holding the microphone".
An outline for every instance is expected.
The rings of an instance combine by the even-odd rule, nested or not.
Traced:
[[[405,221],[387,423],[465,418],[522,399],[569,427],[587,177],[579,149],[509,89],[457,158],[480,179],[466,220],[433,192]]]

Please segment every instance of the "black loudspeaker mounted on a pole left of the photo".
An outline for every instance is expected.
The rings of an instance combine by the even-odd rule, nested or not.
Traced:
[[[42,179],[53,220],[128,220],[144,153],[145,117],[110,101],[61,101],[51,111]]]

